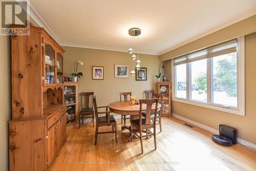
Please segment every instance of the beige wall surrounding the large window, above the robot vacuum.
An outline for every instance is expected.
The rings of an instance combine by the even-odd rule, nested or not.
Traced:
[[[216,44],[225,39],[247,34],[245,36],[245,116],[176,101],[172,102],[173,113],[217,130],[219,129],[219,124],[236,127],[239,138],[256,144],[256,33],[248,34],[252,31],[256,32],[256,15],[160,56],[161,60],[169,59],[210,44]]]

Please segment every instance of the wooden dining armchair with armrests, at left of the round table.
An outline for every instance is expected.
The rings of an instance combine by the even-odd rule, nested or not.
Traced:
[[[96,145],[98,134],[115,133],[115,136],[117,136],[117,132],[116,132],[116,120],[113,115],[110,115],[110,113],[113,113],[113,112],[108,110],[109,107],[108,106],[98,107],[95,96],[93,97],[93,106],[94,106],[95,119],[96,119],[95,142],[94,142],[94,145]],[[105,108],[106,111],[98,112],[99,108]],[[99,117],[99,114],[105,114],[105,116]],[[112,131],[98,132],[100,126],[112,126]],[[115,131],[114,131],[114,127],[115,127]],[[117,142],[117,138],[116,138],[116,142]]]

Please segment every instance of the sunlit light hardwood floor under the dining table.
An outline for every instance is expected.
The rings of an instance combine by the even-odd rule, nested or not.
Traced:
[[[211,140],[212,133],[176,118],[163,117],[162,133],[157,125],[157,150],[152,137],[143,140],[144,154],[140,154],[140,140],[134,137],[127,142],[128,131],[121,132],[120,122],[117,143],[115,134],[102,134],[94,145],[91,122],[69,130],[51,170],[256,170],[253,149],[218,145]],[[103,129],[107,130],[99,131]]]

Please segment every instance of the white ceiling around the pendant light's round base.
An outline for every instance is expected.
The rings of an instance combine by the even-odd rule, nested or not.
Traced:
[[[30,0],[63,46],[162,54],[256,14],[256,0]]]

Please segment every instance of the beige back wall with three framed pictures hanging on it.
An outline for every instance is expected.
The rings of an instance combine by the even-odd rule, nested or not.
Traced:
[[[83,73],[79,79],[79,92],[94,92],[98,105],[108,105],[119,100],[119,92],[132,92],[137,98],[144,98],[145,90],[156,90],[156,77],[160,68],[159,56],[140,54],[141,67],[147,68],[147,81],[136,81],[131,75],[132,57],[125,52],[115,52],[96,49],[63,47],[64,74],[70,77],[74,72],[74,60],[84,62],[78,66],[78,71]],[[114,64],[129,65],[129,78],[114,78]],[[92,79],[92,66],[104,67],[104,80]],[[134,65],[135,70],[135,65]]]

